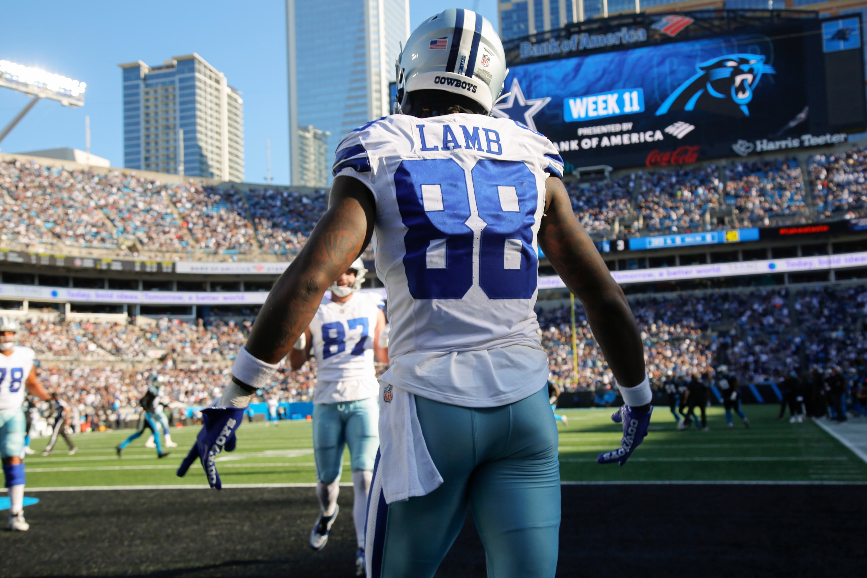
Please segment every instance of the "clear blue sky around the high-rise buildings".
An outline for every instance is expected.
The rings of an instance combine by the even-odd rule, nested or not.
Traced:
[[[497,0],[410,0],[410,27],[447,8],[478,10],[494,25]],[[0,60],[44,68],[88,83],[85,106],[43,100],[0,143],[3,153],[70,146],[122,166],[121,62],[150,65],[197,52],[244,95],[245,180],[264,182],[265,140],[271,177],[289,182],[283,0],[149,0],[147,3],[28,0],[3,6]],[[23,94],[0,89],[0,127],[24,105]]]

